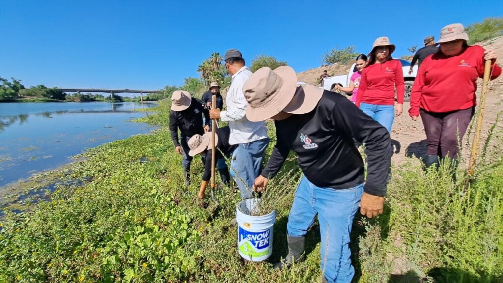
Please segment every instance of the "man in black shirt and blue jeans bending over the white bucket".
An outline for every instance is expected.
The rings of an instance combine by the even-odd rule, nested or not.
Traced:
[[[349,236],[354,216],[382,213],[390,169],[388,131],[345,97],[311,85],[297,87],[295,71],[261,68],[243,87],[250,121],[273,119],[276,145],[254,189],[265,189],[292,150],[303,176],[287,225],[289,253],[282,268],[300,260],[304,235],[316,215],[321,234],[321,269],[327,282],[350,282],[354,275]],[[353,138],[365,143],[368,174]]]

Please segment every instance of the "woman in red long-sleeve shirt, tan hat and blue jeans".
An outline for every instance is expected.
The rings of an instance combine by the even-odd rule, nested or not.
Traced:
[[[369,64],[362,72],[356,99],[356,106],[383,125],[388,132],[391,132],[395,116],[402,114],[405,93],[402,65],[391,57],[395,48],[385,36],[374,41],[369,53]],[[395,88],[398,100],[396,108]]]

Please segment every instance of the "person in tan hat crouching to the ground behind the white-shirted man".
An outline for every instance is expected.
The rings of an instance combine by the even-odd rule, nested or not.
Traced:
[[[211,178],[211,132],[207,132],[203,135],[195,134],[189,139],[190,156],[195,156],[198,154],[206,154],[206,162],[204,166],[203,181],[201,182],[201,188],[199,190],[199,198],[204,198],[204,192],[208,181]],[[230,128],[221,127],[215,130],[215,159],[217,160],[216,167],[220,173],[220,178],[222,183],[225,185],[230,184],[230,174],[227,163],[225,163],[225,158],[230,158],[232,153],[237,148],[237,145],[229,144]]]

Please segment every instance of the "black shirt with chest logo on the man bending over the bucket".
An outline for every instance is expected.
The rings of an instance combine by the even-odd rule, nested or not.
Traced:
[[[274,177],[290,150],[309,181],[319,187],[346,189],[364,181],[364,166],[353,137],[367,148],[364,190],[386,193],[391,163],[388,131],[345,97],[324,91],[311,112],[275,121],[276,145],[262,176]]]

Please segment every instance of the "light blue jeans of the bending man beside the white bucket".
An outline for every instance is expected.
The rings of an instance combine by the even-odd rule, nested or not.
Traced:
[[[351,227],[363,184],[349,189],[322,188],[302,176],[288,217],[288,235],[303,237],[318,215],[321,270],[328,282],[351,282],[355,268],[349,248]]]

